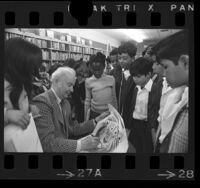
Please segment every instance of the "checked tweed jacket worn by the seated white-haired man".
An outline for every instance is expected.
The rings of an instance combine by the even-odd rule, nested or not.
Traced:
[[[52,90],[36,96],[33,103],[41,115],[35,119],[35,124],[44,152],[75,152],[77,141],[68,139],[69,135],[81,135],[94,129],[92,121],[74,125],[68,100],[64,101],[62,115]]]

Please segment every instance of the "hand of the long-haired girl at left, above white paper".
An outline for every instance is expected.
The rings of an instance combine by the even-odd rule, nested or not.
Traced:
[[[8,123],[19,125],[22,129],[26,129],[30,122],[29,114],[21,110],[7,110],[6,116]]]

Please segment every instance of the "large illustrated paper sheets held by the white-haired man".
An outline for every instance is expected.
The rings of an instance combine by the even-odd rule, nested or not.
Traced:
[[[90,150],[90,153],[126,153],[128,139],[124,121],[117,110],[108,105],[110,115],[98,122],[92,135],[100,139],[98,149]]]

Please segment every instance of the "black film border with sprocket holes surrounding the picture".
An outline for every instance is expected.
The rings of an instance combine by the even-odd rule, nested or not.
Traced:
[[[46,3],[46,2],[37,2],[38,5],[41,3]],[[0,28],[0,39],[3,41],[4,40],[4,29],[5,28],[20,28],[20,27],[26,27],[26,28],[63,28],[63,27],[72,27],[72,28],[88,28],[93,25],[92,28],[117,28],[119,27],[119,23],[121,25],[121,28],[144,28],[144,29],[150,29],[150,27],[153,29],[159,29],[159,28],[177,28],[177,29],[189,29],[191,33],[194,33],[194,23],[193,21],[193,12],[180,12],[178,10],[174,11],[172,14],[169,11],[164,10],[163,8],[159,7],[161,5],[160,2],[155,2],[154,4],[159,5],[157,8],[158,10],[156,12],[147,12],[144,9],[144,5],[149,5],[149,2],[143,3],[143,7],[141,6],[140,2],[134,2],[137,6],[139,6],[139,10],[141,12],[133,11],[133,12],[120,12],[120,14],[115,14],[115,13],[110,13],[110,12],[96,12],[93,14],[92,18],[89,18],[88,20],[88,25],[87,26],[79,26],[77,24],[77,21],[74,20],[70,16],[68,12],[66,12],[66,9],[64,6],[61,6],[65,4],[66,2],[59,2],[59,5],[57,5],[57,10],[55,10],[54,5],[55,2],[50,2],[47,9],[44,11],[41,7],[35,6],[35,2],[26,2],[25,7],[30,8],[30,10],[26,10],[23,13],[20,12],[21,7],[15,7],[11,4],[4,3],[2,8],[8,8],[8,9],[3,9],[3,11],[0,11],[1,17],[6,18],[7,16],[10,17],[9,20],[11,20],[10,23],[6,24],[6,20],[8,19],[2,19],[1,20],[1,28]],[[95,2],[98,4],[102,4],[102,2]],[[112,3],[116,2],[106,2],[105,4],[109,3],[109,6]],[[119,2],[117,2],[119,3]],[[129,2],[131,3],[131,1]],[[169,2],[165,2],[167,4],[172,4]],[[124,4],[124,2],[123,2]],[[181,2],[177,2],[178,5],[181,5]],[[184,2],[184,5],[187,3]],[[193,4],[193,3],[192,3]],[[34,6],[34,9],[32,8]],[[145,14],[142,14],[144,12]],[[38,14],[39,13],[39,14]],[[47,13],[47,15],[45,14]],[[14,16],[13,16],[14,15]],[[29,15],[27,19],[22,19],[24,18],[24,15]],[[151,15],[151,16],[149,16]],[[178,16],[177,16],[178,15]],[[47,18],[49,16],[52,18],[49,21]],[[122,16],[122,18],[120,18]],[[35,18],[36,17],[36,18]],[[178,17],[178,18],[177,18]],[[185,17],[185,23],[179,25],[179,21],[177,20],[182,20],[182,18]],[[60,21],[60,23],[55,23],[57,21],[55,20],[63,20]],[[104,23],[101,18],[104,18],[107,20],[106,23]],[[134,23],[129,23],[130,18],[133,18]],[[151,19],[153,21],[151,22]],[[111,21],[110,21],[111,20]],[[119,20],[121,20],[119,22]],[[156,20],[156,23],[154,23]],[[166,22],[163,22],[166,21]],[[173,23],[171,23],[169,20],[173,20]],[[5,21],[5,23],[4,23]],[[68,21],[68,22],[67,22]],[[62,22],[62,24],[61,24]],[[160,24],[159,24],[160,23]],[[178,23],[178,25],[177,25]],[[101,25],[99,27],[99,24]],[[153,24],[153,25],[152,25]],[[191,45],[191,43],[194,42],[194,36],[191,36],[191,42],[190,42],[190,52],[191,52],[191,61],[194,60],[194,46]],[[1,47],[3,49],[3,45],[1,44]],[[2,52],[0,53],[1,57],[3,57]],[[194,61],[193,61],[194,62]],[[194,67],[192,66],[192,69]],[[190,69],[191,70],[191,69]],[[194,69],[193,69],[194,70]],[[3,74],[1,74],[3,75]],[[194,75],[191,74],[190,71],[190,84],[193,86],[190,88],[191,93],[192,89],[194,88]],[[2,79],[3,80],[3,79]],[[192,80],[192,81],[191,81]],[[3,96],[3,95],[2,95]],[[194,105],[194,100],[190,100],[190,103]],[[3,106],[3,105],[2,105]],[[190,105],[191,106],[191,105]],[[191,115],[191,113],[190,113]],[[3,118],[1,118],[3,119]],[[191,118],[190,118],[191,120]],[[194,120],[192,119],[190,124],[193,124]],[[196,128],[196,127],[195,127]],[[3,134],[3,131],[1,132]],[[190,131],[190,137],[191,135],[194,135],[194,128],[192,131]],[[3,135],[1,135],[3,138]],[[3,142],[2,142],[3,143]],[[10,179],[8,176],[11,175],[11,170],[12,174],[15,174],[15,179],[46,179],[45,177],[53,178],[53,179],[63,179],[63,176],[56,176],[55,171],[57,171],[57,174],[66,174],[66,169],[63,168],[65,166],[69,166],[66,161],[69,159],[71,160],[73,158],[73,165],[69,166],[68,174],[71,172],[71,175],[68,175],[71,179],[134,179],[134,180],[165,180],[165,176],[163,175],[163,178],[156,176],[156,173],[160,173],[162,169],[165,171],[162,171],[162,173],[166,173],[166,169],[168,170],[169,177],[173,177],[174,170],[176,171],[175,174],[179,175],[179,177],[182,177],[182,180],[190,180],[190,178],[183,178],[183,176],[187,175],[188,170],[194,170],[194,140],[190,142],[190,151],[187,154],[160,154],[160,155],[148,155],[148,154],[59,154],[59,153],[44,153],[44,154],[37,154],[37,153],[31,153],[31,154],[23,154],[23,153],[10,153],[6,154],[3,152],[3,149],[1,149],[1,155],[0,155],[0,171],[2,171],[3,174],[3,179]],[[3,148],[3,147],[2,147]],[[69,156],[68,156],[69,155]],[[96,164],[96,159],[98,158],[98,163]],[[122,159],[122,163],[119,164],[118,159]],[[47,160],[48,159],[48,162]],[[24,162],[24,160],[26,162]],[[110,162],[108,162],[110,160]],[[134,161],[131,163],[131,161]],[[7,162],[6,162],[7,161]],[[12,162],[13,161],[13,165]],[[53,164],[54,163],[56,164]],[[170,162],[169,162],[170,161]],[[189,164],[192,161],[192,165]],[[5,163],[4,163],[5,162]],[[164,163],[163,163],[164,162]],[[3,164],[4,163],[4,164]],[[8,166],[5,166],[7,165]],[[23,164],[23,165],[22,165]],[[10,166],[9,166],[10,165]],[[55,165],[55,166],[54,166]],[[138,165],[140,167],[140,171],[138,169]],[[191,166],[190,166],[191,165]],[[12,168],[13,166],[13,168]],[[27,168],[28,167],[28,168]],[[29,169],[30,167],[30,169]],[[42,172],[46,173],[47,168],[45,167],[52,167],[51,169],[48,169],[49,175],[45,176],[44,178],[41,176],[38,176],[34,174],[35,176],[32,177],[32,172]],[[26,175],[26,177],[22,177],[19,172],[19,168],[21,168],[21,172],[23,171]],[[129,169],[130,168],[130,169]],[[88,170],[87,170],[88,169]],[[92,169],[92,172],[91,170]],[[98,172],[97,170],[100,169]],[[186,170],[185,170],[186,169]],[[144,174],[147,171],[146,178],[144,177]],[[170,173],[171,171],[172,174]],[[181,171],[182,170],[182,171]],[[52,172],[53,171],[53,172]],[[61,173],[64,171],[64,173]],[[73,171],[73,173],[72,173]],[[122,174],[116,174],[113,172],[116,171],[121,171],[123,172]],[[131,172],[130,172],[131,171]],[[102,172],[102,173],[101,173]],[[51,174],[52,173],[52,174]],[[102,176],[98,175],[98,173],[103,174]],[[149,173],[149,174],[148,174]],[[154,175],[152,175],[154,173]],[[74,174],[74,175],[73,175]],[[88,175],[90,174],[90,175]],[[151,175],[152,176],[151,176]],[[185,175],[184,175],[185,174]],[[95,177],[96,175],[96,177]],[[67,177],[68,177],[67,176]],[[13,176],[12,176],[13,177]],[[166,176],[168,177],[168,176]],[[144,178],[144,179],[143,179]],[[170,177],[171,178],[171,177]],[[68,179],[64,176],[64,179]],[[172,178],[173,179],[173,178]],[[175,178],[176,180],[181,180],[181,178]],[[194,178],[192,178],[194,179]]]

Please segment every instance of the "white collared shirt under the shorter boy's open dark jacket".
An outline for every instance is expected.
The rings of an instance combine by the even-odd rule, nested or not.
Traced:
[[[141,86],[136,86],[138,88],[138,93],[136,97],[135,110],[133,112],[134,119],[147,120],[147,106],[149,92],[151,91],[152,85],[153,81],[150,79],[143,89],[141,89]]]

